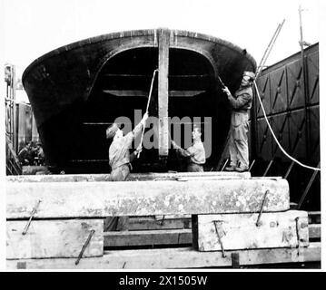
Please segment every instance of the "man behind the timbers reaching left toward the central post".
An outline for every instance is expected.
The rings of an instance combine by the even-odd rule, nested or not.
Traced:
[[[205,149],[203,147],[203,142],[201,139],[202,132],[199,127],[193,128],[193,145],[187,150],[182,149],[173,140],[173,149],[187,159],[187,171],[188,172],[203,172],[203,164],[205,163]]]

